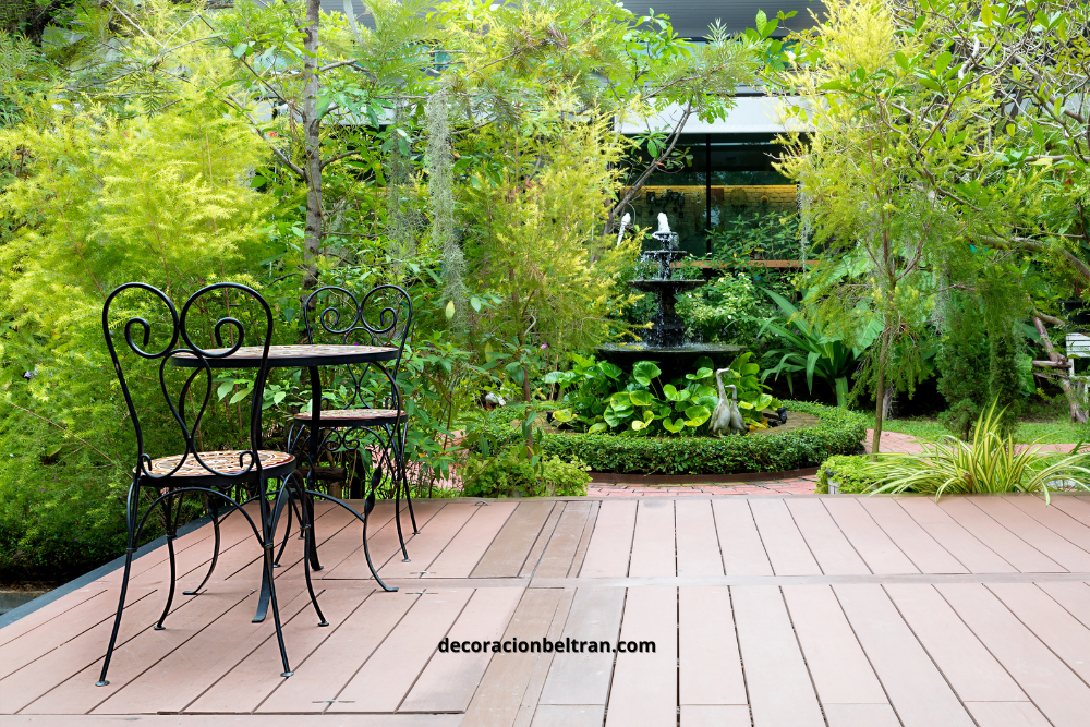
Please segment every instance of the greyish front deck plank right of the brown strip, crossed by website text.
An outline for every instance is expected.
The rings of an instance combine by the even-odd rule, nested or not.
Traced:
[[[625,610],[625,589],[581,587],[576,591],[562,638],[616,643]],[[541,704],[602,704],[609,695],[611,653],[555,654]]]

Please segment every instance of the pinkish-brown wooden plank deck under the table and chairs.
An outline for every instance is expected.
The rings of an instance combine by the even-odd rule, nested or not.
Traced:
[[[96,688],[119,572],[0,629],[0,725],[936,727],[1090,724],[1090,499],[722,497],[392,506],[372,552],[320,510],[328,628],[300,541],[271,619],[259,552],[226,523],[216,575],[175,599],[136,561],[110,686]],[[183,587],[210,528],[177,542]],[[180,589],[181,590],[181,589]],[[453,640],[649,641],[654,654],[451,654]],[[81,715],[81,716],[76,716]]]

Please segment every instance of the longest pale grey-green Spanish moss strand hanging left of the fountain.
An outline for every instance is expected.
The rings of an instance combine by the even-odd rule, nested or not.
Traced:
[[[432,206],[432,244],[443,251],[443,300],[455,325],[465,320],[465,258],[455,232],[449,124],[449,90],[427,99],[427,196]]]

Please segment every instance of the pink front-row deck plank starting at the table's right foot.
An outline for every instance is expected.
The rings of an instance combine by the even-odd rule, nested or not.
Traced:
[[[372,592],[343,623],[330,627],[335,630],[320,646],[298,666],[293,665],[295,675],[284,679],[257,712],[317,714],[325,711],[328,704],[325,700],[337,699],[349,679],[422,597],[400,591]]]

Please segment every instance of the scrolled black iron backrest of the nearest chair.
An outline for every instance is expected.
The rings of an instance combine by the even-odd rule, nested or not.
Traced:
[[[120,331],[123,331],[124,343],[131,353],[140,359],[159,362],[158,379],[160,393],[170,411],[170,419],[178,425],[182,439],[185,443],[184,456],[181,457],[177,465],[170,471],[160,473],[153,473],[150,470],[153,457],[147,452],[145,446],[140,411],[133,400],[133,395],[125,377],[124,366],[122,366],[122,360],[119,355],[116,342],[117,336],[113,334],[118,327],[111,326],[110,320],[111,308],[120,305],[120,301],[125,300],[128,294],[140,292],[143,292],[145,299],[150,299],[152,310],[158,308],[158,319],[149,322],[145,317],[149,314],[133,314],[133,311],[130,308],[123,314],[130,315],[130,317],[120,326]],[[233,302],[231,300],[232,292],[238,293]],[[239,300],[240,298],[242,299],[241,301]],[[250,305],[246,305],[247,302]],[[233,311],[232,307],[234,308]],[[147,310],[148,306],[145,304],[144,308]],[[217,308],[222,311],[222,315],[217,314]],[[167,313],[169,313],[169,319],[165,315]],[[214,319],[214,323],[209,322],[209,318]],[[247,326],[243,323],[242,318],[251,320],[249,335],[246,331]],[[166,344],[153,346],[150,347],[153,350],[148,350],[154,328],[161,328],[164,330],[164,335],[157,338],[167,342]],[[141,339],[140,341],[134,338],[134,332],[136,338]],[[136,470],[141,477],[161,480],[175,474],[183,467],[193,467],[194,462],[207,470],[209,474],[221,477],[242,477],[249,475],[252,470],[256,470],[259,476],[262,465],[256,452],[261,448],[259,414],[265,381],[268,378],[268,355],[272,341],[272,312],[268,303],[265,302],[265,299],[257,291],[234,282],[219,282],[206,286],[193,293],[185,301],[181,314],[179,314],[170,298],[157,288],[143,282],[125,283],[117,288],[106,299],[106,303],[102,306],[102,334],[106,338],[107,348],[110,351],[110,358],[113,361],[118,380],[121,384],[125,405],[129,409],[129,414],[136,432]],[[207,339],[214,346],[201,346],[198,341],[204,339]],[[257,379],[254,384],[250,402],[250,447],[239,455],[239,471],[222,472],[215,469],[211,463],[205,462],[199,457],[197,448],[197,432],[201,427],[202,419],[208,410],[213,391],[214,367],[209,362],[230,356],[245,346],[255,347],[261,355],[261,366],[257,369]],[[171,393],[171,387],[168,384],[167,366],[170,364],[171,359],[174,359],[175,362],[179,359],[187,359],[187,363],[190,364],[179,369],[184,377],[184,381],[177,396]],[[196,391],[193,386],[194,381],[202,374],[205,378],[203,392]],[[191,401],[191,392],[195,395],[194,398],[198,402],[198,405],[195,407],[195,412],[187,413],[186,405]],[[178,452],[169,453],[177,455]]]

